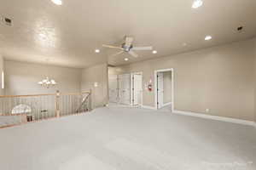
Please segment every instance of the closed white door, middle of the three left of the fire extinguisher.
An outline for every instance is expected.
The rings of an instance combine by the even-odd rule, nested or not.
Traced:
[[[131,103],[131,75],[123,74],[118,76],[119,103],[130,105]]]

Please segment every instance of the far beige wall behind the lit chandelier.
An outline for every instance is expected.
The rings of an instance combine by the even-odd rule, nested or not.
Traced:
[[[80,92],[81,69],[66,68],[52,65],[38,65],[16,61],[4,61],[5,94],[45,94]],[[45,77],[55,79],[55,88],[43,88],[38,82]]]

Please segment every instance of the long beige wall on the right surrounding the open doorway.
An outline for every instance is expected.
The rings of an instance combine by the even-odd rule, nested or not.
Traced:
[[[143,71],[145,84],[150,78],[154,81],[155,70],[173,68],[176,110],[253,121],[253,42],[233,42],[124,65],[121,69]],[[143,90],[143,105],[154,106],[154,89]]]

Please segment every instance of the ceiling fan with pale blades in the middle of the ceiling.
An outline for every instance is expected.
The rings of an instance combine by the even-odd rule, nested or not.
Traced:
[[[138,57],[138,54],[136,54],[134,51],[152,50],[153,49],[153,47],[151,47],[151,46],[149,46],[149,47],[134,47],[132,42],[133,42],[133,37],[126,37],[125,36],[125,42],[122,43],[119,47],[112,46],[112,45],[105,45],[105,44],[103,44],[102,46],[104,48],[117,48],[117,49],[121,50],[121,51],[119,51],[119,53],[113,54],[112,56],[127,53],[127,54],[131,54],[131,56],[133,56],[133,57]]]

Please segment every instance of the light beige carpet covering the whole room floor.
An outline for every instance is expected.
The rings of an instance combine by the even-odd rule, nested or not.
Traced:
[[[256,130],[166,111],[100,108],[0,129],[2,170],[255,170]]]

